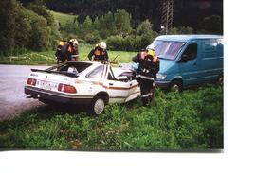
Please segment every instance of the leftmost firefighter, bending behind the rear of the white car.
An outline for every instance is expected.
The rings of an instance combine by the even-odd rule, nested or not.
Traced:
[[[61,41],[55,53],[57,64],[65,61],[77,61],[79,59],[78,45],[76,39],[71,39],[68,42]]]

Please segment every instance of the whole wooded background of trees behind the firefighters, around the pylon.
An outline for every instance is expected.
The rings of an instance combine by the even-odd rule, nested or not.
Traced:
[[[61,37],[81,43],[105,40],[112,49],[137,51],[159,33],[162,1],[4,0],[0,52],[48,49]],[[60,26],[47,9],[79,15],[74,23]],[[222,34],[222,10],[222,0],[174,0],[174,27],[168,33]]]

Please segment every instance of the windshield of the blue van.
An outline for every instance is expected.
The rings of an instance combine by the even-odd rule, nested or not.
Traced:
[[[174,61],[185,42],[156,40],[153,44],[155,45],[156,55],[159,59]]]

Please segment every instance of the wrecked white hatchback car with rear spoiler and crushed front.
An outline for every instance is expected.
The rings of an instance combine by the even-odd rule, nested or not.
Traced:
[[[101,114],[108,103],[140,96],[132,71],[94,61],[68,61],[46,70],[31,69],[25,94],[44,103],[89,105]]]

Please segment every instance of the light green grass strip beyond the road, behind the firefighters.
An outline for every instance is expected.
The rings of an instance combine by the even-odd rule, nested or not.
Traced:
[[[88,44],[80,44],[79,47],[79,55],[80,60],[88,61],[87,55],[89,51],[93,48],[92,45]],[[52,65],[56,63],[55,60],[55,51],[42,51],[42,52],[31,52],[28,51],[26,53],[14,55],[17,58],[26,57],[27,61],[19,60],[19,61],[9,61],[8,57],[0,56],[0,63],[2,64],[29,64],[29,65]],[[131,62],[133,56],[135,56],[136,52],[123,52],[123,51],[108,51],[110,60],[116,59],[117,62]]]

